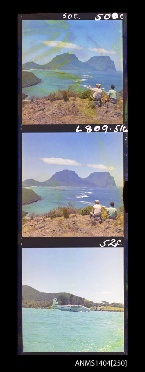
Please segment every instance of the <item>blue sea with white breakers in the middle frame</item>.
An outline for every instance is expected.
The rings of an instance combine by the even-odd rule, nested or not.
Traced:
[[[32,213],[43,213],[49,212],[51,209],[58,206],[61,203],[62,206],[72,202],[75,208],[85,208],[88,205],[94,205],[94,201],[98,199],[100,205],[105,208],[110,207],[110,202],[115,203],[115,208],[119,208],[123,205],[122,199],[122,187],[116,188],[86,188],[86,187],[71,187],[71,186],[58,186],[58,187],[28,187],[32,189],[36,194],[42,196],[42,200],[29,204],[23,205],[22,209],[28,212],[27,217]],[[62,188],[62,190],[55,190],[55,188]]]

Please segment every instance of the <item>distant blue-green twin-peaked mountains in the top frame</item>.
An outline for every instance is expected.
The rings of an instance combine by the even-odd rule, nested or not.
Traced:
[[[56,55],[52,61],[43,65],[35,64],[34,62],[26,62],[22,65],[22,70],[29,69],[41,69],[41,70],[83,70],[83,71],[116,71],[114,61],[107,55],[101,55],[91,57],[86,62],[81,62],[75,54],[63,53]]]

